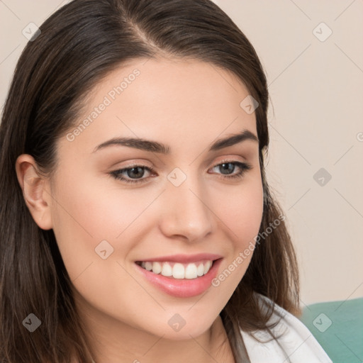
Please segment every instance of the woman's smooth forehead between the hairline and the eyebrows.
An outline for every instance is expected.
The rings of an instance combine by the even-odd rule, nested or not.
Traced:
[[[133,60],[94,86],[74,144],[91,152],[107,138],[128,136],[185,147],[244,129],[256,134],[255,113],[240,105],[248,95],[234,74],[207,62]]]

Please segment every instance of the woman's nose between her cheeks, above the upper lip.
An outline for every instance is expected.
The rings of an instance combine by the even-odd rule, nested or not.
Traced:
[[[180,186],[169,184],[163,195],[160,229],[169,238],[180,236],[195,242],[215,228],[212,201],[200,181],[187,178]]]

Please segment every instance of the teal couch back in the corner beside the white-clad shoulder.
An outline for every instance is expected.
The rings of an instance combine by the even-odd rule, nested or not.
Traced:
[[[300,320],[333,363],[363,363],[363,298],[314,303]]]

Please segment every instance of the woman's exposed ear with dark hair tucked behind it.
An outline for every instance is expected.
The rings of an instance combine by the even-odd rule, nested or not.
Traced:
[[[16,159],[16,175],[35,223],[43,230],[50,230],[52,196],[49,180],[40,174],[34,158],[28,154],[20,155]]]

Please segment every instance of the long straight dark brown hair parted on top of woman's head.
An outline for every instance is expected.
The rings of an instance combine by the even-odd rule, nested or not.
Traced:
[[[259,103],[255,115],[264,189],[259,232],[265,235],[220,313],[236,362],[245,354],[239,328],[269,328],[273,306],[262,311],[256,292],[299,312],[298,269],[284,220],[265,232],[282,212],[264,174],[266,77],[245,35],[210,0],[76,0],[52,14],[26,45],[0,125],[0,362],[63,363],[72,353],[80,362],[91,361],[72,281],[53,231],[40,229],[28,211],[16,158],[30,154],[51,175],[57,140],[74,126],[92,87],[128,60],[159,55],[227,69]],[[23,327],[29,313],[43,318],[31,335]]]

